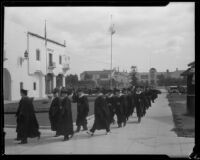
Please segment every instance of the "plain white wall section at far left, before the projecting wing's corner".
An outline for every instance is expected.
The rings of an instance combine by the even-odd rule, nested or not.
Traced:
[[[4,27],[4,43],[6,58],[4,68],[7,68],[11,75],[11,99],[18,100],[20,98],[20,81],[29,81],[27,77],[27,62],[23,65],[19,64],[19,57],[24,56],[26,50],[26,29],[15,23],[5,20]],[[24,84],[24,88],[27,84]]]

